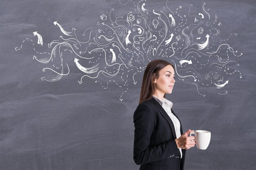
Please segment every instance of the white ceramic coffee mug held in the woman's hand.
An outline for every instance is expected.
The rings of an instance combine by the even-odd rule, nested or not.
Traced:
[[[211,140],[211,132],[206,131],[206,130],[195,130],[195,132],[191,132],[190,136],[192,134],[195,134],[195,143],[198,149],[205,150]]]

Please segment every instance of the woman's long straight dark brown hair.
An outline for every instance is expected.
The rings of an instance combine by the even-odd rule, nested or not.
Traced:
[[[139,96],[139,104],[150,99],[153,96],[156,88],[154,80],[159,78],[159,71],[168,65],[171,65],[174,69],[173,64],[165,60],[152,60],[148,63],[143,75],[141,91]]]

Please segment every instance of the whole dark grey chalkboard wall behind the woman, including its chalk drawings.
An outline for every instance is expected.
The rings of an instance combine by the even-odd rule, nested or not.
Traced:
[[[133,113],[148,62],[176,70],[186,170],[255,168],[253,0],[3,0],[0,170],[138,170]]]

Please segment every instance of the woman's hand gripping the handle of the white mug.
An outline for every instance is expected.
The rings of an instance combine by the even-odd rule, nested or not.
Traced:
[[[178,139],[175,139],[177,147],[182,149],[189,149],[195,146],[195,137],[189,136],[190,132],[195,132],[195,130],[188,130],[183,135],[181,135]]]

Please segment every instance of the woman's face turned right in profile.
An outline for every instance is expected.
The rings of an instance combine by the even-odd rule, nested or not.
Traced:
[[[163,97],[165,93],[172,93],[175,83],[173,67],[168,65],[162,68],[162,70],[159,71],[158,79],[155,79],[154,83],[156,83],[155,93],[157,93],[158,96],[161,95]]]

